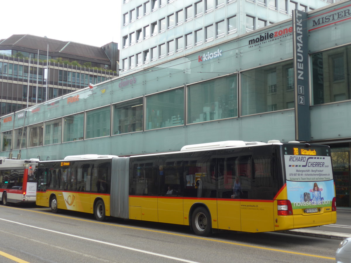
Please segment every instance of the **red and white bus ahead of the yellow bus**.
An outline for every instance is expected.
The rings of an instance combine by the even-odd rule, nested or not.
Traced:
[[[34,170],[39,159],[16,160],[0,157],[0,201],[9,203],[35,203],[37,180]]]

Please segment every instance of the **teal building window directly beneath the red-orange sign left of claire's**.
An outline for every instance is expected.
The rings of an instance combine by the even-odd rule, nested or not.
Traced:
[[[63,121],[64,140],[63,142],[71,142],[83,140],[84,136],[84,113],[77,113],[65,116]]]

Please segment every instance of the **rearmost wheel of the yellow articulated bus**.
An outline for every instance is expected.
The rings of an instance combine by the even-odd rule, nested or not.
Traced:
[[[209,236],[211,234],[211,217],[206,208],[195,208],[191,215],[191,227],[198,236]]]

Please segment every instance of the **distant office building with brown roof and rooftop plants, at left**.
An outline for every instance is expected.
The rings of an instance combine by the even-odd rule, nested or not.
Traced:
[[[1,39],[0,115],[116,77],[117,60],[113,42],[94,47],[28,34]]]

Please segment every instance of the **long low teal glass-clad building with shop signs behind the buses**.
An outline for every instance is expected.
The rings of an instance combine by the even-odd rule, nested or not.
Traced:
[[[27,159],[58,160],[214,141],[288,142],[303,123],[310,130],[305,141],[331,147],[337,205],[350,207],[350,4],[307,14],[305,112],[298,108],[293,23],[286,20],[3,116],[1,154],[21,149]],[[326,15],[335,18],[332,25]]]

